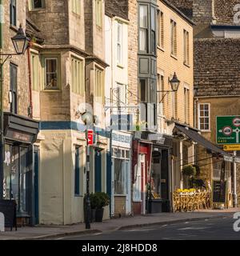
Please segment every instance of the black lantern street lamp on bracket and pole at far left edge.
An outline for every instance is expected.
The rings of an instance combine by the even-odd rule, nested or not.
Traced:
[[[2,36],[2,34],[0,35]],[[6,60],[9,58],[12,58],[12,56],[15,55],[24,55],[26,52],[27,47],[29,46],[30,38],[26,37],[26,34],[22,30],[22,25],[20,24],[17,34],[11,38],[15,53],[5,54],[0,52],[0,56],[6,56],[5,59],[1,59],[0,62],[0,103],[1,103],[1,109],[0,109],[0,133],[1,133],[1,142],[0,142],[0,199],[3,198],[3,162],[4,162],[4,136],[3,136],[3,65],[6,63]]]

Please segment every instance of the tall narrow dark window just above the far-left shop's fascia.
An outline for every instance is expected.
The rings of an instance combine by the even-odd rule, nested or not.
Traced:
[[[18,113],[17,83],[18,66],[10,63],[10,112],[14,114]]]

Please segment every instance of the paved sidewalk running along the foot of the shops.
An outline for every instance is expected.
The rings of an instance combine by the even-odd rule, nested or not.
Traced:
[[[94,234],[111,230],[124,230],[139,226],[154,224],[171,224],[177,222],[197,221],[205,218],[232,217],[234,212],[240,212],[240,208],[228,210],[201,210],[190,213],[162,213],[134,216],[128,218],[112,218],[101,223],[91,223],[91,230],[85,229],[85,224],[67,226],[26,226],[18,228],[18,231],[0,232],[0,240],[25,240],[58,238],[74,234]]]

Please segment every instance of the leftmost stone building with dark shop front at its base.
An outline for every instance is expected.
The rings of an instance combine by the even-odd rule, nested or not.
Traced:
[[[16,54],[11,38],[26,30],[25,2],[1,3],[0,198],[17,202],[18,222],[34,223],[34,142],[39,123],[31,118],[30,52]],[[1,125],[1,126],[2,126]]]

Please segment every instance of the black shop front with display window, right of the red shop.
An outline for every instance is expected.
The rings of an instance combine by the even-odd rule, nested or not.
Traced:
[[[154,141],[148,187],[147,210],[150,214],[170,212],[172,138],[163,136]]]

